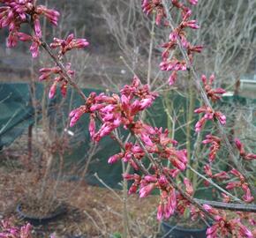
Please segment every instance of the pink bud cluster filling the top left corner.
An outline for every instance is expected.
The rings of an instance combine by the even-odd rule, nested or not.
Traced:
[[[56,26],[59,13],[43,5],[35,5],[34,2],[33,0],[2,0],[1,3],[4,5],[0,7],[0,28],[9,27],[7,47],[15,47],[19,40],[32,41],[30,51],[32,56],[36,57],[41,44],[40,17],[46,17]],[[34,34],[19,33],[20,26],[28,22],[34,27]]]

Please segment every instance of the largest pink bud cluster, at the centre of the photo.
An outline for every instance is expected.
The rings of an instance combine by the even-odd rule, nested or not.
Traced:
[[[139,112],[150,107],[156,96],[156,93],[149,92],[148,86],[140,86],[139,78],[135,77],[131,86],[124,86],[121,90],[121,96],[116,93],[112,95],[91,93],[85,106],[71,112],[71,126],[83,113],[89,113],[90,135],[94,141],[100,141],[121,125],[124,129],[134,127]],[[102,126],[98,131],[96,131],[96,115],[102,118]]]

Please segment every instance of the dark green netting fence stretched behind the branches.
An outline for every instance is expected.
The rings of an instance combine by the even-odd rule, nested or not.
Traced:
[[[34,87],[36,100],[41,100],[43,94],[43,86],[36,84]],[[84,93],[88,95],[94,91],[101,93],[99,90],[83,89]],[[31,105],[31,89],[28,84],[1,84],[0,85],[0,146],[10,145],[15,138],[18,138],[30,124],[34,123],[34,108]],[[189,100],[178,93],[170,93],[168,100],[162,97],[155,100],[154,105],[147,112],[145,118],[148,123],[157,127],[168,127],[168,116],[166,114],[166,101],[171,102],[173,108],[177,112],[177,116],[172,118],[177,123],[180,129],[176,132],[176,138],[180,145],[186,141],[186,131],[182,125],[186,122],[186,111],[188,108]],[[54,100],[48,100],[49,105],[49,118],[51,122],[57,121],[56,126],[59,132],[68,128],[68,114],[71,109],[79,107],[82,100],[77,93],[70,91],[66,99],[57,94]],[[40,105],[40,103],[38,104]],[[196,107],[200,105],[200,101],[195,101]],[[248,100],[239,96],[223,97],[223,99],[216,105],[216,107],[229,108],[232,110],[234,107],[247,107],[248,105],[256,106],[256,100]],[[36,108],[37,114],[41,115],[41,108]],[[194,118],[191,126],[194,127],[197,118]],[[53,123],[54,124],[54,123]],[[256,121],[254,119],[254,125]],[[65,154],[65,165],[67,170],[72,165],[84,166],[87,157],[86,152],[89,149],[90,138],[87,130],[88,115],[83,115],[72,129],[74,136],[71,138],[72,150]],[[123,130],[122,134],[127,135],[127,131]],[[192,130],[192,142],[196,138],[196,133]],[[111,138],[103,138],[99,143],[99,150],[95,153],[94,159],[88,168],[86,180],[90,184],[99,185],[100,182],[95,179],[94,174],[100,175],[102,180],[109,184],[112,188],[118,188],[118,182],[121,181],[122,164],[117,163],[115,166],[110,166],[107,163],[109,157],[119,152],[116,142]],[[76,176],[74,175],[74,178]]]

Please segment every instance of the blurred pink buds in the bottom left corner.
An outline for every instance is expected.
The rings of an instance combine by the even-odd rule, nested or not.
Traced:
[[[2,220],[0,227],[0,238],[32,238],[31,225],[15,227],[9,220]]]

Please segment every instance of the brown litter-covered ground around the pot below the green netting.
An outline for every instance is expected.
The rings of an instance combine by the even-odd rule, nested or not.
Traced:
[[[19,218],[16,207],[24,200],[26,182],[34,178],[33,172],[22,168],[0,167],[0,216],[10,218],[18,225],[26,221]],[[26,182],[25,182],[26,180]],[[23,183],[23,184],[22,184]],[[123,232],[122,192],[89,186],[77,182],[61,182],[56,197],[63,199],[67,212],[48,224],[33,228],[34,238],[49,237],[111,237]],[[27,188],[28,189],[28,188]],[[73,191],[73,192],[72,192]],[[72,196],[70,197],[70,195]],[[140,199],[137,195],[127,201],[127,214],[132,237],[154,237],[158,229],[155,219],[156,197]]]

